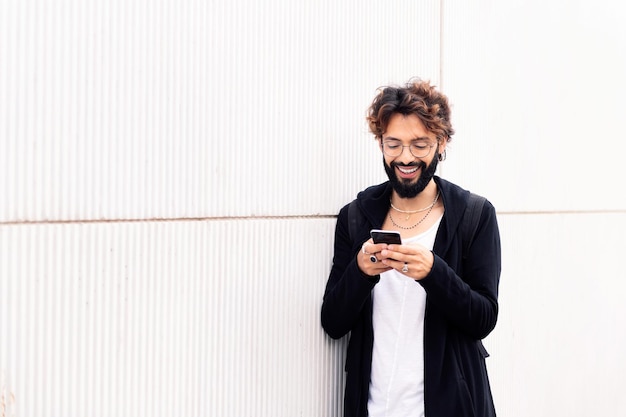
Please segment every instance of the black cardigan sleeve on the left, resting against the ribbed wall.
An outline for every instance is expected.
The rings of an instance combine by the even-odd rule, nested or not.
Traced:
[[[333,265],[322,302],[322,327],[334,339],[348,334],[371,297],[380,276],[364,275],[356,262],[362,242],[352,242],[348,230],[348,206],[341,209],[335,227]]]

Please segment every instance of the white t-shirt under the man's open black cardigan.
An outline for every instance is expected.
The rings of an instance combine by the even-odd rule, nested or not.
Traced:
[[[403,244],[432,250],[439,220]],[[372,290],[374,349],[369,417],[424,416],[424,312],[426,292],[412,278],[391,270]]]

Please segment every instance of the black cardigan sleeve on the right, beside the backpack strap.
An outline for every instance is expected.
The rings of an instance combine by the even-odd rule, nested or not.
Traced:
[[[435,255],[428,276],[419,283],[428,303],[438,309],[451,325],[474,339],[485,338],[495,327],[498,317],[498,284],[501,271],[500,233],[496,212],[485,203],[474,242],[465,261],[461,244],[457,252],[462,277],[444,259]]]

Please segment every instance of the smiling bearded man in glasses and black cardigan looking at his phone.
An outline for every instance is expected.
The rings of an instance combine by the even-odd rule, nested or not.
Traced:
[[[350,333],[344,415],[495,416],[481,340],[498,315],[500,236],[485,201],[466,248],[470,193],[435,176],[448,99],[423,81],[386,87],[367,121],[389,181],[339,212],[321,314],[331,337]],[[402,243],[375,244],[371,229]]]

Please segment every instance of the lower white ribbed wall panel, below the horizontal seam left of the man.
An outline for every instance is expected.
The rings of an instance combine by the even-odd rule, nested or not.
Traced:
[[[319,324],[333,227],[3,227],[0,382],[16,415],[339,415],[343,343]]]

